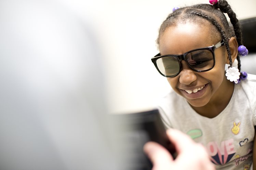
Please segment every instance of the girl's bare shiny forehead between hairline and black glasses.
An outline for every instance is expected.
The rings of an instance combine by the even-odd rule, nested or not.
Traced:
[[[160,54],[183,54],[216,44],[219,39],[211,36],[216,32],[211,30],[210,26],[186,22],[167,28],[159,39]]]

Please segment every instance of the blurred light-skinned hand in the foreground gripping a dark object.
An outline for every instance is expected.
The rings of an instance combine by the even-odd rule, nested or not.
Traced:
[[[163,146],[156,142],[147,142],[144,146],[144,152],[153,164],[152,170],[215,169],[205,148],[200,143],[194,142],[189,136],[175,129],[169,129],[166,133],[174,144],[178,155],[174,160],[170,152]]]

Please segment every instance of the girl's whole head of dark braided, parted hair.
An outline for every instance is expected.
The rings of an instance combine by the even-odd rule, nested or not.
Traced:
[[[233,27],[229,25],[224,13],[227,13]],[[175,10],[162,23],[159,29],[157,44],[159,45],[159,39],[161,38],[162,34],[168,27],[175,26],[175,24],[177,23],[186,22],[188,20],[200,22],[200,23],[204,23],[205,21],[206,22],[208,21],[213,24],[215,28],[214,31],[218,33],[221,36],[221,38],[224,40],[224,44],[229,56],[229,64],[230,66],[232,66],[232,58],[231,58],[231,52],[229,48],[229,38],[236,37],[239,46],[243,45],[243,42],[242,42],[242,30],[240,27],[240,23],[234,11],[231,9],[230,5],[228,4],[228,2],[226,0],[219,0],[214,5],[197,4],[197,5],[183,7]],[[238,60],[238,69],[239,71],[241,71],[241,63],[240,63],[239,55],[237,56],[237,60]]]

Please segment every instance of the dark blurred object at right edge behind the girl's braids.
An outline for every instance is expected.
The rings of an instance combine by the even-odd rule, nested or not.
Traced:
[[[256,52],[256,17],[240,20],[244,46],[250,53]]]

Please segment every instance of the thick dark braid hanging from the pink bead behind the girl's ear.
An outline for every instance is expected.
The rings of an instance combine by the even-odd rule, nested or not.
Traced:
[[[237,19],[237,16],[235,15],[234,11],[231,9],[230,5],[226,0],[219,0],[215,5],[213,5],[216,9],[219,8],[219,10],[223,13],[227,13],[228,17],[230,19],[230,22],[233,25],[235,36],[237,38],[238,45],[243,45],[243,39],[242,39],[242,30],[239,23],[239,20]],[[238,69],[241,71],[241,62],[240,62],[240,56],[237,55],[238,60]]]

